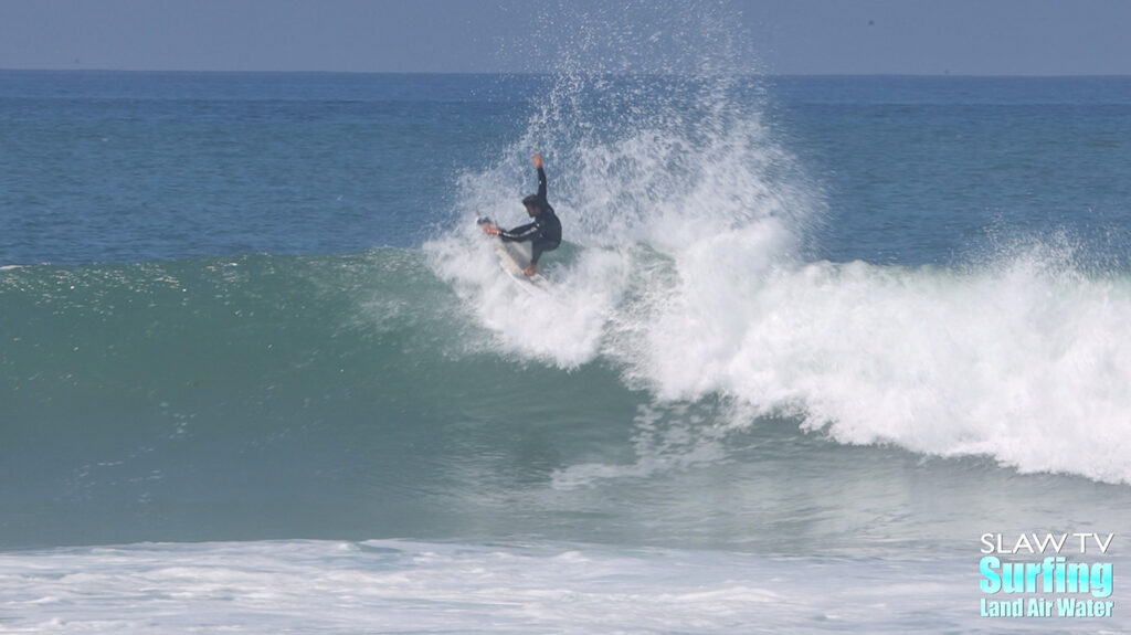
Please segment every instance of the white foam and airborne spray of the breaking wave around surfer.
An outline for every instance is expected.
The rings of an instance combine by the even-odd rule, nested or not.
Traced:
[[[951,267],[814,258],[824,194],[749,77],[561,76],[455,210],[517,224],[542,151],[571,243],[543,262],[551,297],[520,297],[469,220],[424,246],[501,350],[612,363],[658,402],[734,400],[737,427],[785,415],[840,443],[1131,482],[1131,282],[1087,264],[1086,241]]]

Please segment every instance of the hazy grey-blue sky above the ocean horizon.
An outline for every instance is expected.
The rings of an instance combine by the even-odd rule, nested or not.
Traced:
[[[539,71],[577,47],[631,67],[714,46],[688,34],[703,16],[762,72],[1131,75],[1131,0],[0,0],[0,68]]]

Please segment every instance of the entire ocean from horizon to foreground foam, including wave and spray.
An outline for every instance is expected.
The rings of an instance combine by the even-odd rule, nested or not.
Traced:
[[[0,71],[0,632],[1131,628],[1131,79],[596,70]]]

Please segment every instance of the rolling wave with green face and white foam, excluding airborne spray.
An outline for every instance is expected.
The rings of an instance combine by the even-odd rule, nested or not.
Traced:
[[[995,464],[1128,481],[1123,278],[1033,255],[970,272],[785,260],[726,284],[696,250],[573,247],[536,303],[467,249],[461,278],[398,249],[0,272],[6,545],[789,553],[802,531],[858,555],[860,536],[914,549],[970,514],[1122,522],[1123,486],[1099,507],[1088,480]],[[932,510],[898,515],[923,496]]]

